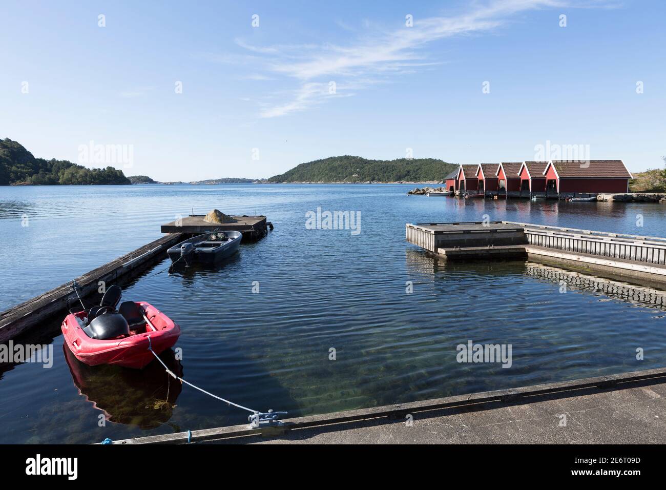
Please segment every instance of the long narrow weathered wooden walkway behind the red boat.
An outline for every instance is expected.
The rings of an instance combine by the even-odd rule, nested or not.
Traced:
[[[184,240],[187,236],[184,233],[169,233],[77,277],[75,281],[79,283],[79,295],[86,297],[97,293],[99,281],[112,285],[119,279],[129,280],[139,275],[151,263],[165,259],[166,249]],[[76,297],[75,292],[67,283],[3,311],[0,313],[0,342],[9,341],[31,329],[39,328],[56,313],[65,311],[67,302]]]

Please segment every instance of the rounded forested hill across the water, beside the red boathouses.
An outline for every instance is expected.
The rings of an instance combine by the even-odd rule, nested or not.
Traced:
[[[344,155],[301,163],[268,182],[429,182],[441,181],[456,167],[434,158],[368,160]]]

